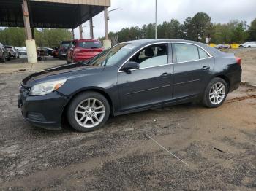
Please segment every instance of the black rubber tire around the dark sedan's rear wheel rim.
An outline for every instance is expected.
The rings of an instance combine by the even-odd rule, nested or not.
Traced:
[[[222,85],[224,85],[225,95],[219,104],[213,104],[210,100],[210,90],[211,90],[211,87],[213,87],[217,83],[221,83]],[[225,101],[225,99],[227,98],[227,93],[228,93],[227,82],[222,78],[215,77],[214,79],[211,79],[211,82],[209,82],[209,84],[206,87],[205,93],[203,95],[203,105],[208,108],[215,108],[215,107],[221,106]]]

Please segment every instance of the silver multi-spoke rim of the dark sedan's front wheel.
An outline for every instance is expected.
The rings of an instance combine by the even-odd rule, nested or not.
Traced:
[[[84,128],[94,128],[102,122],[105,106],[95,98],[83,100],[75,109],[75,120]]]

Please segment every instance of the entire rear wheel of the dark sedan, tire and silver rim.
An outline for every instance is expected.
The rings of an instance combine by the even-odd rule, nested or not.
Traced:
[[[217,90],[217,91],[216,91]],[[224,79],[215,77],[206,87],[203,104],[208,108],[221,106],[227,98],[228,87]],[[210,96],[211,94],[211,96]]]

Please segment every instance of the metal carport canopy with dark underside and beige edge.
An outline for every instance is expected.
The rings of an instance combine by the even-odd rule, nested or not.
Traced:
[[[31,28],[76,28],[110,7],[110,0],[29,0]],[[23,27],[22,0],[0,0],[0,26]]]

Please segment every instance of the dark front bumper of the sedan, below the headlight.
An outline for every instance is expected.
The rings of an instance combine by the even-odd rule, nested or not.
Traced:
[[[67,101],[67,98],[57,92],[31,96],[22,87],[18,95],[18,107],[23,118],[35,126],[47,129],[61,129],[61,115]]]

